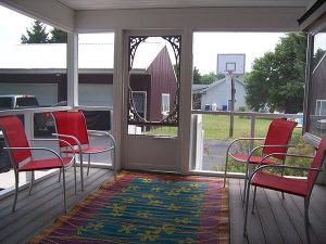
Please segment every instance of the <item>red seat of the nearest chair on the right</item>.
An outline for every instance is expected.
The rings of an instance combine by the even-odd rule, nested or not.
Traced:
[[[254,175],[251,184],[303,197],[308,194],[308,182],[305,180],[285,178],[262,171]]]

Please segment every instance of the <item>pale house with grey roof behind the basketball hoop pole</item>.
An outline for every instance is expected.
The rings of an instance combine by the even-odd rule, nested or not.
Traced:
[[[244,84],[235,78],[236,101],[235,111],[246,105]],[[223,78],[211,85],[193,85],[193,101],[196,101],[196,110],[228,110],[230,102],[230,80]]]

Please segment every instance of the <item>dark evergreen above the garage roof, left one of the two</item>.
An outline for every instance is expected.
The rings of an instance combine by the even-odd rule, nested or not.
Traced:
[[[35,21],[32,28],[26,28],[27,36],[22,35],[22,43],[47,43],[48,35],[46,33],[46,27],[39,21]]]

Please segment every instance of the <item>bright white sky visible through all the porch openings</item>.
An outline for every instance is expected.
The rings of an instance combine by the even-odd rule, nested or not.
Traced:
[[[18,44],[26,28],[34,20],[0,5],[0,43]],[[48,27],[50,29],[50,27]],[[274,51],[281,33],[195,33],[193,66],[203,74],[216,73],[217,54],[246,54],[246,72],[251,70],[252,62],[268,51]],[[79,35],[79,43],[113,42],[114,35]],[[326,46],[326,35],[321,38]],[[322,44],[323,43],[323,44]],[[326,49],[326,47],[324,48]]]

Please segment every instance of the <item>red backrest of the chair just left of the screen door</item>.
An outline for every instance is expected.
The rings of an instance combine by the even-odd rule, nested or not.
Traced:
[[[84,114],[80,111],[76,112],[53,112],[52,113],[57,132],[61,134],[68,134],[77,138],[82,145],[89,144],[87,136],[87,126]],[[71,145],[77,145],[77,143],[70,138],[59,137],[60,139],[67,141]],[[65,147],[66,144],[59,142],[60,147]]]

